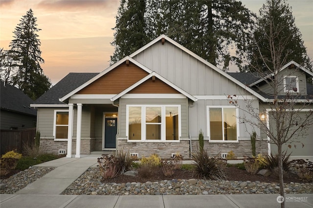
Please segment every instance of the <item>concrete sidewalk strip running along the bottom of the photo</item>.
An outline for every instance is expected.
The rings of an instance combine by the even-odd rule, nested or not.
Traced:
[[[286,202],[286,208],[312,208],[313,194],[306,202]],[[277,194],[187,195],[187,196],[90,196],[90,195],[0,195],[1,208],[280,208]]]

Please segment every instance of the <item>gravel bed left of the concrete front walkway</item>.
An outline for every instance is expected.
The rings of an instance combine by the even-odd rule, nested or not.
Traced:
[[[13,194],[55,168],[29,167],[7,179],[0,180],[0,193]]]

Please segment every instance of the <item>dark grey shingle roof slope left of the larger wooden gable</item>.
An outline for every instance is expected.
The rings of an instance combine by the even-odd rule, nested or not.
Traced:
[[[44,95],[35,100],[34,104],[64,104],[59,98],[75,90],[99,73],[69,73]]]

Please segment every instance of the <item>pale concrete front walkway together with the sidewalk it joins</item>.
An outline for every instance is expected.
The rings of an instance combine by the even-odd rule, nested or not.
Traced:
[[[56,167],[16,194],[0,194],[1,208],[279,208],[277,194],[234,195],[145,195],[91,196],[60,195],[89,167],[97,166],[101,155],[60,158],[39,164]],[[188,161],[185,161],[188,163]],[[287,198],[286,198],[287,197]],[[313,194],[286,195],[287,208],[313,208]],[[296,197],[296,198],[294,198]]]

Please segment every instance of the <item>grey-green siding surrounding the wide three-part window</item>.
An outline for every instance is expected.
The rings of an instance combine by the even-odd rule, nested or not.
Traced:
[[[126,135],[126,105],[180,105],[180,119],[181,119],[181,137],[188,138],[188,99],[177,98],[177,99],[132,99],[132,98],[121,98],[119,101],[119,138],[127,138]]]

